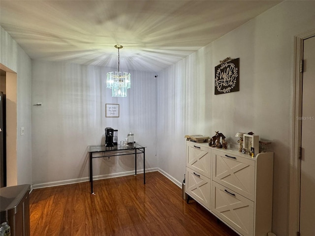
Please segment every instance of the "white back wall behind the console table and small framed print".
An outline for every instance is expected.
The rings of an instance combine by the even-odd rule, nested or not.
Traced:
[[[156,79],[130,71],[127,97],[113,98],[106,73],[115,69],[61,62],[32,62],[32,169],[34,187],[87,180],[87,146],[105,144],[104,129],[129,131],[146,149],[146,168],[156,168]],[[120,104],[119,118],[105,118],[105,103]],[[94,176],[134,170],[133,156],[93,160]],[[137,169],[142,170],[139,156]],[[72,179],[72,180],[71,180]]]

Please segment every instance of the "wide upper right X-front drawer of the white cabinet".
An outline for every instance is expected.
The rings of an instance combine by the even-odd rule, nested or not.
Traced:
[[[255,161],[219,150],[212,150],[212,179],[254,201]]]

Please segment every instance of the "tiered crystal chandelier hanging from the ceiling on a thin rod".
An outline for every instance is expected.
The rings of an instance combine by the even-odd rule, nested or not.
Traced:
[[[118,71],[107,73],[107,88],[112,89],[112,97],[126,97],[130,89],[130,73],[119,71],[119,49],[122,45],[115,45],[118,49]]]

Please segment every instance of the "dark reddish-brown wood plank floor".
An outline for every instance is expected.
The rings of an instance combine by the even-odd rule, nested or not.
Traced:
[[[31,236],[237,236],[159,172],[34,189]]]

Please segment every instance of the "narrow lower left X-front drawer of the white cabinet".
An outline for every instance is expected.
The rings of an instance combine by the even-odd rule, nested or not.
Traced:
[[[186,168],[186,193],[194,200],[210,209],[211,180],[200,173]]]

